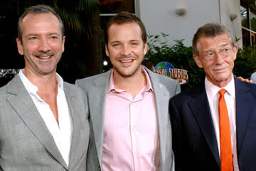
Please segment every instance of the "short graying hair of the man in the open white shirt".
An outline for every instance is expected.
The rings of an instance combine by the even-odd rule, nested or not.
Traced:
[[[22,15],[18,18],[18,39],[21,40],[21,44],[22,44],[22,21],[23,21],[23,18],[25,18],[25,16],[28,15],[28,13],[33,13],[33,14],[53,13],[53,15],[58,18],[58,21],[60,21],[61,35],[63,38],[63,36],[64,36],[63,21],[61,20],[58,13],[50,6],[36,5],[36,6],[29,6],[27,9],[25,9],[25,11],[22,13]]]

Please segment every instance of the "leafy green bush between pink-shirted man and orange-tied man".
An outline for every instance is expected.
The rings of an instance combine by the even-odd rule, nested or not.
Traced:
[[[188,83],[181,85],[182,89],[191,87],[201,82],[205,77],[202,69],[199,69],[193,61],[192,47],[186,47],[183,40],[174,40],[174,45],[167,42],[168,34],[148,35],[148,52],[145,58],[154,65],[159,62],[170,62],[174,67],[188,70]]]

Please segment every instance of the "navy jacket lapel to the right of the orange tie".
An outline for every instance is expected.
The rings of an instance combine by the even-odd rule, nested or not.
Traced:
[[[254,99],[251,98],[249,87],[235,78],[235,108],[236,108],[236,130],[238,159],[242,143],[247,130],[250,117],[250,109]]]

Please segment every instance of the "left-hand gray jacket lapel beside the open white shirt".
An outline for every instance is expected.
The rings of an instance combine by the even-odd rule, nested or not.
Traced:
[[[55,145],[53,136],[48,131],[46,123],[41,118],[31,96],[26,91],[18,75],[7,85],[7,92],[10,94],[7,101],[16,110],[16,113],[21,117],[26,126],[28,126],[33,135],[48,150],[48,153],[68,170],[62,155]]]

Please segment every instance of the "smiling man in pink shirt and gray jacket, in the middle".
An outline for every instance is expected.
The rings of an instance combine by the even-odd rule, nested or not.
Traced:
[[[90,109],[87,170],[174,170],[168,104],[178,82],[141,65],[146,29],[131,13],[107,23],[105,50],[112,70],[76,82]]]

